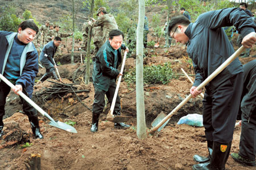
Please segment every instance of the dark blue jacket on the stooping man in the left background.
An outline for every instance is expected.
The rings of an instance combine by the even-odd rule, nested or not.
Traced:
[[[40,53],[40,62],[44,65],[55,65],[53,61],[53,56],[57,50],[57,47],[54,45],[53,41],[44,45],[42,52]]]

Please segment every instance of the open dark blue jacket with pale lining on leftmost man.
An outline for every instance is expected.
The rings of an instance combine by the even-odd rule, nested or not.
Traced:
[[[0,31],[0,72],[3,74],[13,41],[17,32]],[[22,85],[28,94],[32,97],[34,81],[38,73],[38,52],[33,43],[28,43],[20,57],[20,77],[16,84]],[[1,80],[0,80],[1,81]]]

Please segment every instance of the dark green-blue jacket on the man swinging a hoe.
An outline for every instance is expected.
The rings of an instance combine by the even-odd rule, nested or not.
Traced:
[[[121,49],[126,49],[126,46],[122,44],[117,49],[117,68],[122,62]],[[117,78],[119,74],[118,69],[114,68],[114,58],[114,49],[111,47],[109,41],[107,41],[97,52],[93,64],[93,85],[105,92],[109,90],[110,80]]]

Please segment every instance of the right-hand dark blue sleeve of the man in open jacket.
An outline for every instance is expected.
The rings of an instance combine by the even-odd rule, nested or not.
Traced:
[[[16,84],[22,85],[23,88],[34,85],[36,74],[38,74],[38,52],[35,50],[27,53],[26,64]]]

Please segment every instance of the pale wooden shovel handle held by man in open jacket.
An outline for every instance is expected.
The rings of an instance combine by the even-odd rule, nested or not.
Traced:
[[[7,80],[5,77],[3,77],[2,74],[0,74],[0,78],[1,80],[3,80],[7,85],[10,86],[11,89],[15,89],[15,86],[9,81]],[[33,106],[36,110],[39,111],[39,113],[41,113],[43,116],[47,117],[53,124],[57,123],[43,110],[41,109],[41,107],[39,107],[38,105],[36,105],[35,102],[33,102],[29,97],[26,96],[26,94],[24,94],[22,91],[18,91],[19,96],[21,96],[24,100],[26,100],[28,103],[30,103],[31,106]]]

